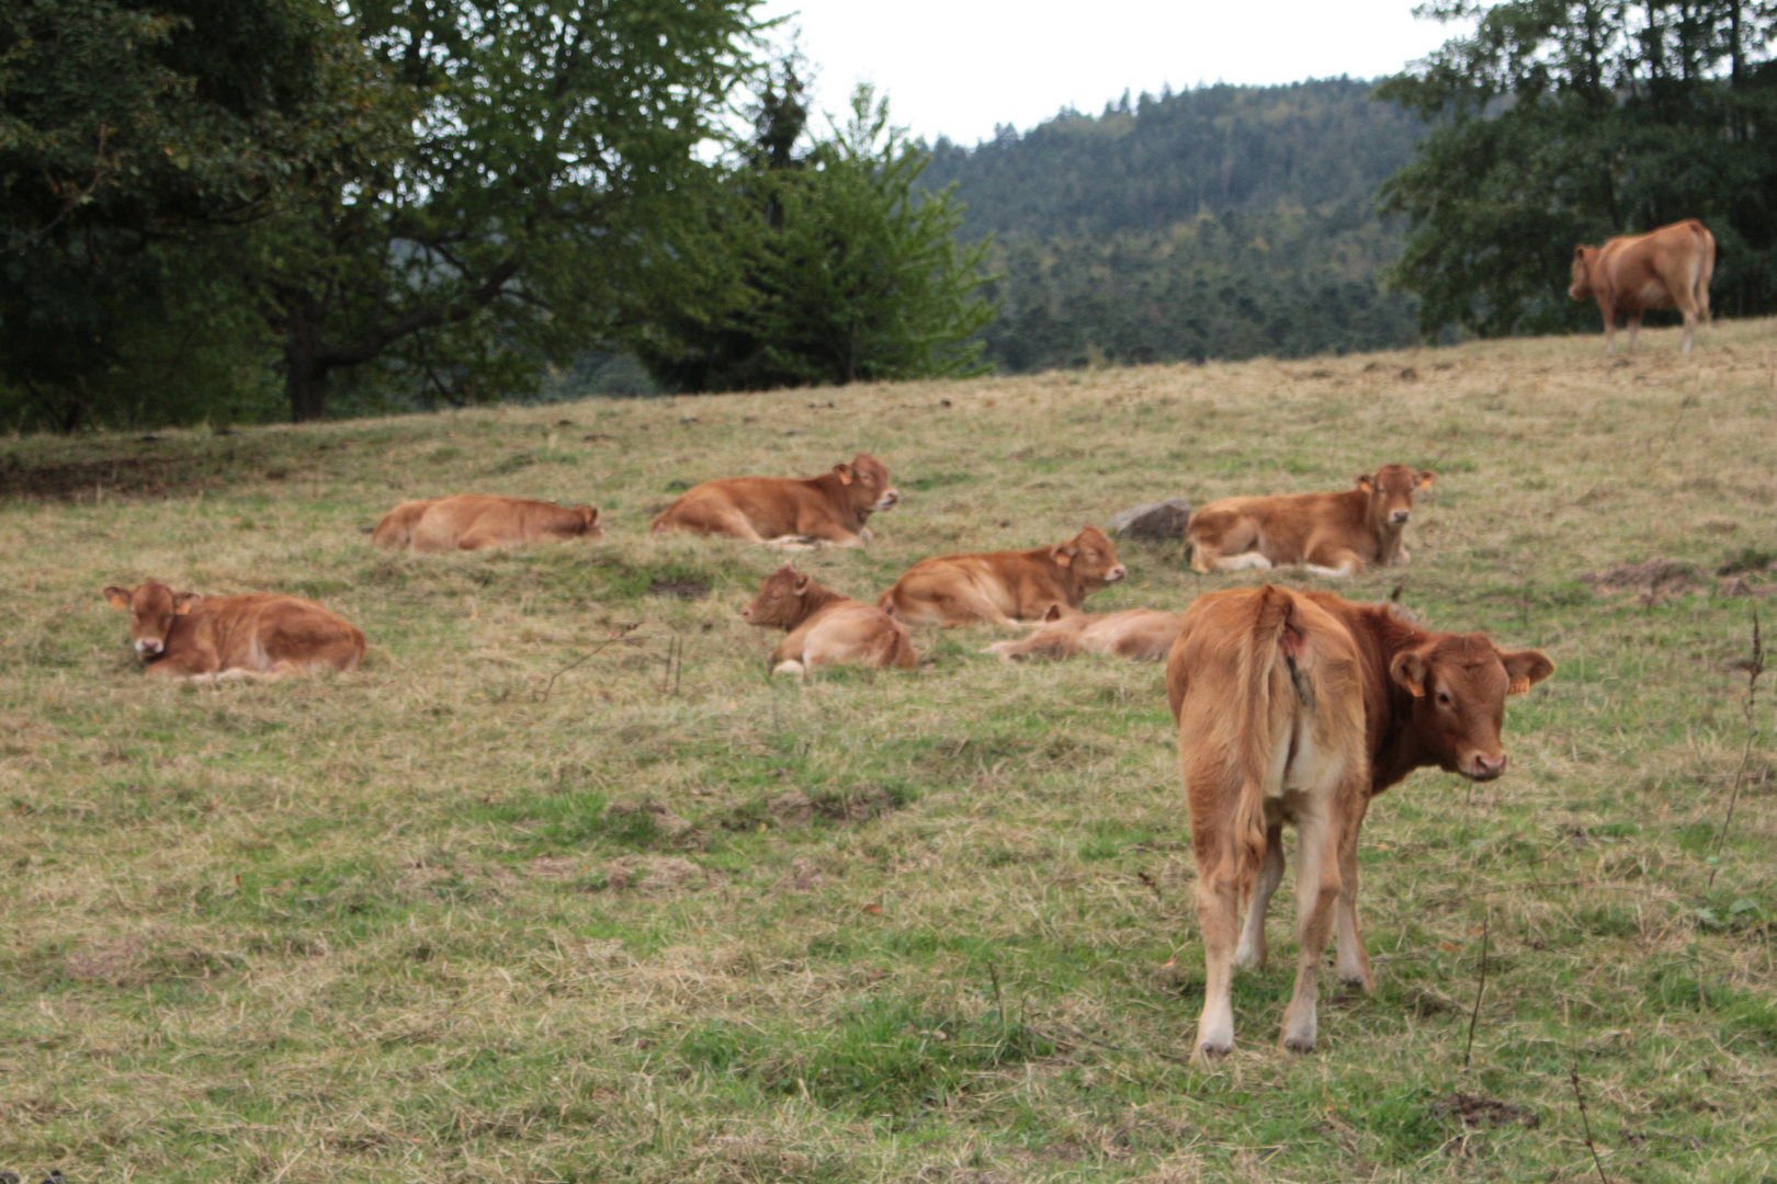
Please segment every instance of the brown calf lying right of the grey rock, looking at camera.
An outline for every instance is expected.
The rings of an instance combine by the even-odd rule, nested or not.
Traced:
[[[1315,575],[1356,575],[1365,566],[1407,561],[1400,533],[1413,495],[1438,474],[1383,465],[1343,493],[1223,497],[1191,515],[1185,540],[1196,572],[1269,572],[1301,563]]]

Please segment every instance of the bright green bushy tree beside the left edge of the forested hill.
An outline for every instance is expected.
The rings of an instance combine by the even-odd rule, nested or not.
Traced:
[[[702,234],[652,261],[634,348],[681,391],[981,373],[976,296],[988,243],[958,247],[954,186],[917,188],[929,153],[869,87],[803,156],[794,75],[759,107],[759,142]]]

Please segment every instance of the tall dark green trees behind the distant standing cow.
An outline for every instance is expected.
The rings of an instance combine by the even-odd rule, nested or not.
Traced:
[[[1578,243],[1702,218],[1720,245],[1715,305],[1777,309],[1777,4],[1434,0],[1475,18],[1377,98],[1436,126],[1383,186],[1409,233],[1398,286],[1420,328],[1548,332]]]

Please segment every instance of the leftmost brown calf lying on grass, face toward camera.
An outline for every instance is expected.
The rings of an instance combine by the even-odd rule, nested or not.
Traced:
[[[364,634],[355,625],[300,596],[199,596],[147,580],[107,588],[105,600],[130,612],[135,651],[147,673],[162,678],[277,678],[325,667],[348,671],[364,659]]]

